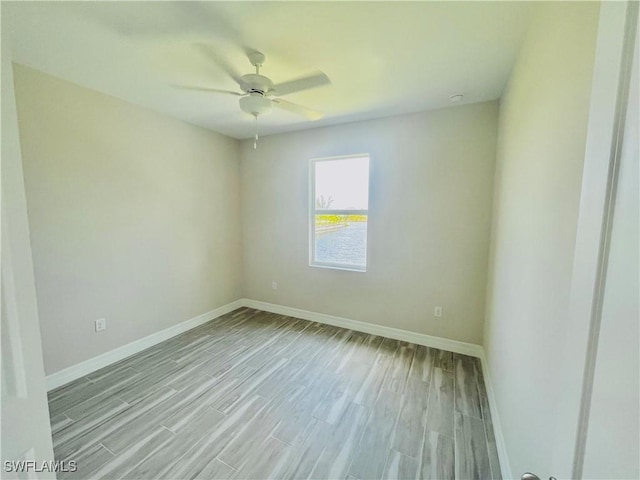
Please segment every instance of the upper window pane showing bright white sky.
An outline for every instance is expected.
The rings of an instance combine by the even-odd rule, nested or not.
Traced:
[[[317,210],[369,208],[369,157],[315,163]]]

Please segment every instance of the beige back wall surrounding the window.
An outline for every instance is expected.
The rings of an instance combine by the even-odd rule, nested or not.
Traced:
[[[488,102],[243,142],[244,296],[481,343],[497,114]],[[367,272],[309,267],[309,160],[353,153],[371,155]]]

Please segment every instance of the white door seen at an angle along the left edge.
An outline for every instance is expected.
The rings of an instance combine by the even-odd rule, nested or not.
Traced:
[[[2,19],[0,13],[0,21]],[[6,26],[3,24],[3,27]],[[2,28],[2,428],[0,477],[56,478],[27,216],[9,33]],[[10,378],[9,378],[10,377]],[[37,462],[18,472],[5,461]],[[11,470],[11,471],[9,471]]]

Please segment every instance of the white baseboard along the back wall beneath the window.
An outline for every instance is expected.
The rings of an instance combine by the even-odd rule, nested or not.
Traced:
[[[481,357],[483,353],[482,346],[474,343],[459,342],[457,340],[425,335],[424,333],[410,332],[408,330],[375,325],[373,323],[361,322],[359,320],[334,317],[333,315],[327,315],[324,313],[285,307],[284,305],[276,305],[248,298],[243,298],[241,302],[243,306],[255,308],[257,310],[278,313],[280,315],[301,318],[303,320],[311,320],[318,323],[326,323],[327,325],[356,330],[358,332],[369,333],[371,335],[380,335],[381,337],[393,338],[395,340],[416,343],[427,347],[439,348],[441,350],[470,355],[472,357]]]

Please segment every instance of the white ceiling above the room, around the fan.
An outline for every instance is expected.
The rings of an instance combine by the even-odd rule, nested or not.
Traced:
[[[198,44],[252,73],[266,55],[275,83],[326,73],[332,84],[289,101],[311,122],[274,109],[272,134],[500,97],[529,23],[529,2],[2,2],[13,60],[235,138],[254,134],[237,90]],[[6,38],[6,37],[5,37]]]

